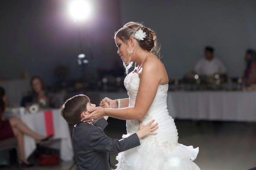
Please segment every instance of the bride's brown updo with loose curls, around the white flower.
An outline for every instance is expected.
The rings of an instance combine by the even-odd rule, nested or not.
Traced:
[[[137,40],[135,38],[135,33],[138,30],[142,30],[146,33],[146,37],[144,40]],[[140,45],[140,48],[149,51],[156,56],[159,55],[160,47],[157,44],[157,35],[155,31],[153,31],[151,28],[147,28],[143,26],[141,23],[135,23],[135,22],[129,22],[126,23],[122,28],[120,28],[115,33],[115,38],[118,37],[123,42],[127,42],[131,37],[134,38]],[[129,58],[131,59],[130,51],[128,51]],[[133,65],[133,62],[124,63],[124,66],[126,68],[126,74],[128,73],[128,69],[131,68]]]

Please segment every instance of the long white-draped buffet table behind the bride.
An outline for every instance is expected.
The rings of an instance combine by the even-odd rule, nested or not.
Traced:
[[[127,92],[100,92],[99,99],[128,98]],[[169,91],[174,119],[256,122],[256,91]]]

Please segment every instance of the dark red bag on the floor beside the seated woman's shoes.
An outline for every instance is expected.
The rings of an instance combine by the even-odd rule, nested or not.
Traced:
[[[38,158],[39,165],[53,166],[53,165],[58,165],[59,163],[60,163],[60,157],[56,153],[53,153],[51,155],[42,154]]]

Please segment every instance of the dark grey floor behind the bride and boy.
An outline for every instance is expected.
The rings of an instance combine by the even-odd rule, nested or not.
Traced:
[[[179,143],[199,147],[195,163],[201,170],[248,170],[256,167],[256,123],[246,122],[194,122],[175,120]],[[125,122],[109,120],[106,134],[121,138]],[[116,164],[116,154],[111,154]],[[24,170],[69,170],[72,161],[54,167],[32,167]],[[72,170],[76,170],[74,166]]]

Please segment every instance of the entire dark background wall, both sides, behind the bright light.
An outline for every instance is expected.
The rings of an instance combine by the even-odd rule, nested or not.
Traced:
[[[56,65],[69,68],[68,79],[79,77],[79,30],[84,51],[90,40],[88,70],[95,75],[96,68],[111,68],[116,59],[121,63],[113,34],[128,21],[143,22],[157,32],[169,77],[192,69],[205,45],[215,48],[229,76],[239,77],[245,50],[256,46],[253,0],[95,0],[93,8],[90,21],[79,25],[67,19],[63,0],[1,1],[0,77],[18,78],[26,72],[51,84]]]

